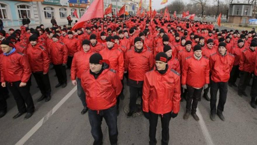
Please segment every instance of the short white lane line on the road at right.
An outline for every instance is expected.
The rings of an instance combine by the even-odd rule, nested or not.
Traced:
[[[206,125],[205,125],[205,122],[203,120],[203,117],[202,117],[202,114],[201,114],[200,110],[198,108],[196,108],[196,110],[197,110],[196,114],[199,117],[199,124],[200,124],[202,132],[204,134],[206,144],[207,145],[214,145],[213,140],[211,139],[211,135],[209,134],[209,131],[208,131]]]

